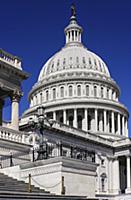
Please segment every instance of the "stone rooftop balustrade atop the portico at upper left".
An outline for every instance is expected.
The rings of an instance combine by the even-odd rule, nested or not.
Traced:
[[[13,56],[4,50],[0,49],[0,60],[3,62],[6,62],[7,64],[10,64],[18,69],[21,69],[21,60],[20,58]]]

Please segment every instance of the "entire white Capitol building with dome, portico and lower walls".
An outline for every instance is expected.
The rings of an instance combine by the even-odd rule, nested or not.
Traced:
[[[129,113],[71,11],[65,45],[42,67],[20,119],[21,82],[29,75],[18,57],[0,51],[0,173],[26,183],[30,174],[34,186],[69,199],[131,200]],[[2,120],[8,97],[10,123]]]

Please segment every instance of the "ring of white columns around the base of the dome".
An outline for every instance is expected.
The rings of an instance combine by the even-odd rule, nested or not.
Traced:
[[[127,118],[114,111],[93,108],[65,109],[49,112],[47,117],[84,131],[128,137]]]

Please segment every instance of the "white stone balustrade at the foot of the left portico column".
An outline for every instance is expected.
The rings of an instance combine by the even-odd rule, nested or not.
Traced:
[[[0,126],[0,139],[29,144],[27,133],[16,131],[2,126]]]

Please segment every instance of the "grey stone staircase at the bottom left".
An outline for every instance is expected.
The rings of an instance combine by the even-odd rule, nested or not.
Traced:
[[[0,200],[83,200],[86,197],[65,196],[50,194],[44,189],[31,186],[32,192],[28,191],[28,183],[18,181],[0,173]]]

